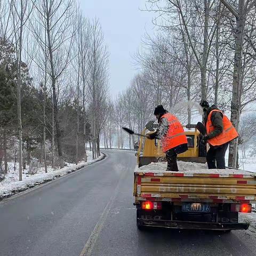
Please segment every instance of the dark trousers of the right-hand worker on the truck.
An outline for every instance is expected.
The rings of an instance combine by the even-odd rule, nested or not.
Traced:
[[[220,147],[210,147],[206,155],[206,161],[209,169],[225,169],[225,154],[229,142]]]

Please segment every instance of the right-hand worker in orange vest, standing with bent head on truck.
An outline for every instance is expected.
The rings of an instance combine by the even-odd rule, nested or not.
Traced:
[[[205,100],[200,102],[204,110],[203,122],[206,127],[205,143],[209,143],[206,161],[209,169],[225,169],[225,154],[231,140],[238,137],[238,133],[228,117],[215,105],[210,107]]]

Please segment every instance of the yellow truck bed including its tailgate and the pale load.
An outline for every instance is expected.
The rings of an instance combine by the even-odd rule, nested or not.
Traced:
[[[179,172],[166,172],[166,163],[134,171],[135,201],[256,203],[256,173],[208,170],[205,164],[178,162]]]

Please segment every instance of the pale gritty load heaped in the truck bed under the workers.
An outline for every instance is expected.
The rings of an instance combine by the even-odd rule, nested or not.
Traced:
[[[201,163],[191,163],[191,162],[183,162],[178,161],[178,169],[179,172],[182,173],[205,173],[205,174],[244,174],[244,175],[254,175],[256,173],[252,173],[249,171],[236,170],[236,169],[211,169],[209,170],[207,164]],[[134,172],[154,172],[154,173],[162,173],[162,172],[170,172],[166,171],[167,162],[159,162],[159,163],[151,163],[149,165],[141,166],[140,168],[135,168]]]

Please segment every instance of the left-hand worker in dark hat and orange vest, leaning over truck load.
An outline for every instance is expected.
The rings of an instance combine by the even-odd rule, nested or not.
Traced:
[[[149,139],[161,139],[163,151],[166,154],[167,170],[178,172],[177,155],[188,150],[188,141],[177,117],[164,109],[162,105],[155,108],[154,115],[158,121],[158,128]]]

